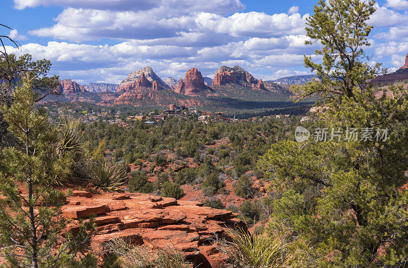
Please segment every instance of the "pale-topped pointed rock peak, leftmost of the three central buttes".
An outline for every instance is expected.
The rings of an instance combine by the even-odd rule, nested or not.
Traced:
[[[126,92],[127,90],[138,90],[138,87],[152,87],[153,82],[157,81],[159,88],[169,89],[169,86],[157,76],[157,74],[147,66],[135,72],[131,72],[126,79],[124,79],[118,88],[118,92]]]

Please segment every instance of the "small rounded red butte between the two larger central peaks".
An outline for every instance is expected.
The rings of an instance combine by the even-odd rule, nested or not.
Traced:
[[[207,89],[207,86],[204,84],[204,79],[202,78],[201,72],[197,68],[191,68],[187,71],[186,76],[183,79],[180,79],[179,85],[177,86],[175,92],[194,96]]]

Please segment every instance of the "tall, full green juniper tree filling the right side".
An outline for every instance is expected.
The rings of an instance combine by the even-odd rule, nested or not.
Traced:
[[[319,80],[294,86],[297,99],[314,96],[326,112],[317,124],[329,129],[373,131],[370,139],[278,142],[260,159],[273,176],[272,218],[307,249],[312,266],[396,267],[408,260],[408,96],[400,86],[382,90],[369,83],[374,2],[319,1],[307,19],[310,41],[322,63],[305,57]],[[388,137],[375,138],[378,129]],[[381,131],[381,136],[385,131]],[[315,136],[316,137],[316,136]]]

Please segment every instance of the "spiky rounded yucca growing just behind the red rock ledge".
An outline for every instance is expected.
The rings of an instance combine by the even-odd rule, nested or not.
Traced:
[[[91,183],[96,189],[107,192],[119,191],[125,183],[126,170],[123,167],[114,166],[111,161],[99,159],[91,164]]]

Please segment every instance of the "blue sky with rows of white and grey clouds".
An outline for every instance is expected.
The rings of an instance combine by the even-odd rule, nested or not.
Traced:
[[[196,67],[213,77],[239,65],[256,78],[308,74],[305,18],[317,0],[2,0],[2,35],[49,59],[52,73],[80,84],[119,83],[151,66],[163,79]],[[395,70],[408,52],[408,1],[382,0],[371,18],[372,64]],[[317,58],[316,58],[317,59]],[[318,60],[318,59],[317,59]]]

